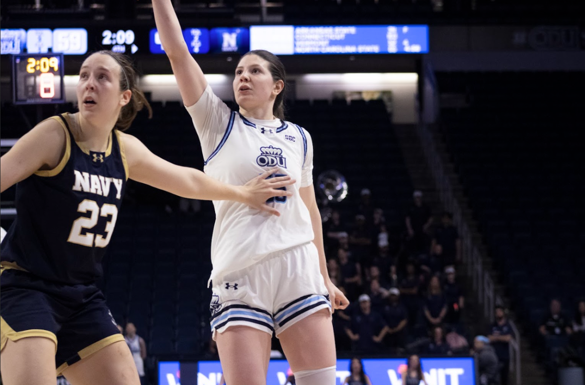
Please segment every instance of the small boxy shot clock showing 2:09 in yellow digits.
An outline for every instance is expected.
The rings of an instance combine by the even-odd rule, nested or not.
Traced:
[[[12,56],[14,104],[63,103],[63,74],[63,54]]]

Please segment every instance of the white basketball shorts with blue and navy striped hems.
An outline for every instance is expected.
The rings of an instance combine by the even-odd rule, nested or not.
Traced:
[[[280,334],[295,322],[331,302],[319,271],[319,255],[312,242],[271,253],[246,269],[214,281],[211,330],[245,325]]]

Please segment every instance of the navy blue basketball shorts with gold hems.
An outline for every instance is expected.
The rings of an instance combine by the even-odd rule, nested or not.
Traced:
[[[57,376],[75,362],[124,341],[104,294],[93,284],[45,281],[26,271],[2,269],[0,315],[2,346],[26,337],[55,342]]]

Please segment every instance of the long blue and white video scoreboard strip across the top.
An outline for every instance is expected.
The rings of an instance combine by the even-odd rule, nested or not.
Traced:
[[[250,26],[204,28],[184,26],[192,54],[243,54],[264,49],[277,55],[427,53],[426,25]],[[84,55],[102,49],[125,54],[164,54],[152,26],[10,28],[0,30],[1,54]]]

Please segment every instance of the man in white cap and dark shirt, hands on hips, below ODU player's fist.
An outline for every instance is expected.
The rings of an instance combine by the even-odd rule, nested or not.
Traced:
[[[359,305],[359,311],[352,316],[351,326],[345,332],[353,341],[353,350],[374,352],[380,349],[387,326],[382,316],[371,310],[369,295],[360,295]]]

